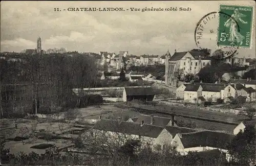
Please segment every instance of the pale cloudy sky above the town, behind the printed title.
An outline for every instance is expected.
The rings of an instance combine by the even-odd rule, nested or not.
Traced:
[[[20,52],[36,48],[65,48],[67,51],[115,52],[133,55],[163,55],[169,49],[188,51],[197,48],[194,31],[207,13],[219,10],[220,4],[255,6],[253,1],[147,1],[147,2],[1,2],[1,52]],[[69,12],[69,7],[191,8],[191,11],[146,12]],[[60,12],[54,12],[59,8]],[[66,9],[66,11],[63,11]],[[255,19],[255,17],[254,17]],[[255,21],[254,21],[255,23]],[[216,50],[218,19],[206,25],[201,45]],[[250,50],[239,50],[240,57],[255,58],[255,26]]]

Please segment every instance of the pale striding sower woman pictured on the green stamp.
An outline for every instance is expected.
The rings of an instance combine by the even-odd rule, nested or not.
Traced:
[[[238,32],[238,21],[241,21],[242,23],[246,24],[247,21],[244,21],[241,17],[245,17],[245,14],[242,14],[238,11],[238,9],[234,9],[234,13],[231,15],[231,18],[229,18],[224,26],[225,27],[229,27],[229,38],[228,41],[230,41],[230,44],[234,44],[234,43],[240,43],[240,45],[243,44],[243,40],[245,39],[245,37],[243,35],[241,35]]]

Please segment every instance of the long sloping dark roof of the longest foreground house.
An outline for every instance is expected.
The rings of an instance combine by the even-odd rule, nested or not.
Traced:
[[[141,126],[139,123],[100,120],[94,125],[93,129],[157,138],[164,128],[147,124]]]

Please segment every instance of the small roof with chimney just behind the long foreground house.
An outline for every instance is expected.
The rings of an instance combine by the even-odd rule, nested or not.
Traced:
[[[155,126],[166,126],[172,119],[168,117],[153,116],[153,124]],[[144,121],[144,124],[151,124],[150,115],[139,115],[136,123]]]

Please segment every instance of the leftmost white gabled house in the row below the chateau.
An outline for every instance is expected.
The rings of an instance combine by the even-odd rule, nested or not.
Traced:
[[[189,103],[198,103],[198,97],[202,96],[202,90],[203,88],[201,85],[186,85],[186,88],[184,89],[184,101]]]

